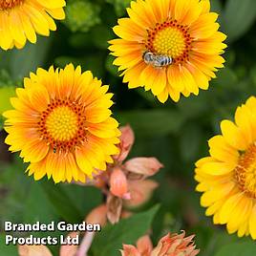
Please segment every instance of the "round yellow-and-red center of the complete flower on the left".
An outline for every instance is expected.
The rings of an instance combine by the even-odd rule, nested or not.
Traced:
[[[56,151],[72,151],[86,141],[86,120],[84,107],[69,99],[55,99],[41,114],[38,131]]]

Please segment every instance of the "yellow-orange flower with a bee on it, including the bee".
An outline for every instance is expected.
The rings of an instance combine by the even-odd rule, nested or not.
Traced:
[[[223,68],[225,35],[209,0],[138,0],[121,18],[111,40],[114,64],[129,88],[151,90],[160,102],[198,95]],[[161,59],[165,59],[162,65]],[[163,61],[164,62],[164,61]],[[160,67],[159,67],[160,66]]]

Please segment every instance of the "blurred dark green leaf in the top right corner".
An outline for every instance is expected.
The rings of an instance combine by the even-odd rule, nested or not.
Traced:
[[[256,18],[255,0],[228,0],[224,11],[224,31],[229,42],[247,32]]]

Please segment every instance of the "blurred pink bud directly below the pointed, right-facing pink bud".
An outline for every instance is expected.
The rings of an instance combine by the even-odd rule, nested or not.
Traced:
[[[125,205],[137,207],[150,199],[154,189],[158,187],[158,183],[152,180],[129,181],[128,187],[131,200],[125,202]]]

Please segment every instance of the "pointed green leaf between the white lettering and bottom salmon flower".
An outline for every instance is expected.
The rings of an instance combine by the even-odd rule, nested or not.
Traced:
[[[121,220],[118,224],[105,226],[97,234],[92,245],[94,255],[120,255],[118,250],[122,248],[123,244],[133,245],[139,237],[145,235],[158,210],[159,205],[155,205],[148,211]]]

